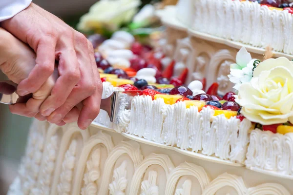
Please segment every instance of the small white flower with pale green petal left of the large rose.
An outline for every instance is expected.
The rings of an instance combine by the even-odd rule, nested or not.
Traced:
[[[230,81],[235,83],[233,87],[237,91],[241,83],[249,82],[252,78],[253,62],[255,59],[251,58],[251,54],[247,52],[245,47],[242,47],[236,55],[236,63],[231,64],[230,67]]]

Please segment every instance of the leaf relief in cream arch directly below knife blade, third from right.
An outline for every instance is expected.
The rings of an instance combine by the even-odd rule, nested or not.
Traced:
[[[125,190],[127,186],[127,161],[123,161],[121,165],[114,170],[113,181],[109,184],[109,194],[110,195],[125,195]]]

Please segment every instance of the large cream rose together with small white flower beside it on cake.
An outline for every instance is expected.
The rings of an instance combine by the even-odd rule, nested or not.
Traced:
[[[252,59],[242,47],[229,78],[238,91],[235,101],[242,106],[241,114],[263,130],[285,134],[293,132],[293,61],[270,57]]]

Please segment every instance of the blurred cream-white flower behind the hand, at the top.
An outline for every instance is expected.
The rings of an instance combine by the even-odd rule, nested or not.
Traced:
[[[78,29],[115,31],[132,20],[140,4],[140,0],[99,0],[81,17]]]

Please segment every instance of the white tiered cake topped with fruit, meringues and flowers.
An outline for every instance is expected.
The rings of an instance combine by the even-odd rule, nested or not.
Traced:
[[[141,89],[118,124],[104,111],[85,131],[35,121],[10,195],[293,194],[291,13],[180,0],[157,15],[153,51],[126,32],[97,49],[102,98]]]

